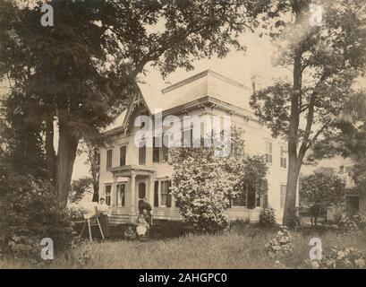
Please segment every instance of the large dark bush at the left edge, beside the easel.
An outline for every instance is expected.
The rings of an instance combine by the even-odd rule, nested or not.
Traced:
[[[0,199],[0,252],[6,257],[40,261],[44,238],[54,241],[55,254],[69,248],[72,229],[53,187],[30,176],[4,175],[7,190]]]

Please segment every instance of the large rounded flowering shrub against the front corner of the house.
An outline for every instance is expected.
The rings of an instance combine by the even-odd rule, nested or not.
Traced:
[[[219,148],[203,144],[169,149],[169,163],[174,168],[172,195],[183,222],[191,223],[196,230],[225,230],[231,200],[240,197],[243,190],[262,193],[267,188],[266,164],[260,157],[244,154],[242,132],[231,130],[231,144],[226,143],[231,153],[226,157],[217,156]],[[254,207],[255,201],[250,205]]]

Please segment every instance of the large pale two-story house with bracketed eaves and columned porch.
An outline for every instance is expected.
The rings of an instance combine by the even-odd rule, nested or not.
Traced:
[[[154,94],[147,86],[140,86],[140,90],[140,95],[135,96],[121,115],[120,122],[105,131],[106,145],[100,147],[99,196],[105,197],[106,204],[110,206],[112,223],[135,222],[139,201],[144,197],[152,206],[154,220],[181,219],[170,192],[174,170],[167,163],[168,147],[147,147],[135,143],[140,127],[136,127],[134,121],[139,116],[152,119],[154,142],[159,136],[164,136],[166,126],[156,125],[157,114],[163,120],[167,116],[175,116],[182,121],[184,116],[230,118],[232,126],[243,128],[244,152],[265,155],[268,195],[265,199],[243,194],[240,200],[233,201],[229,209],[230,219],[258,222],[266,200],[275,208],[278,221],[282,220],[287,143],[273,138],[268,128],[254,116],[249,105],[251,88],[215,72],[205,71],[174,83],[159,94]],[[182,126],[183,137],[191,134],[191,130],[191,126]]]

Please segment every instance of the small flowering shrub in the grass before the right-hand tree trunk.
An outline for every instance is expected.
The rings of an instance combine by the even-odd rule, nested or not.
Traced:
[[[265,247],[270,257],[283,256],[293,252],[294,247],[291,243],[291,234],[288,228],[281,226],[281,229],[277,232],[277,236],[270,239]]]

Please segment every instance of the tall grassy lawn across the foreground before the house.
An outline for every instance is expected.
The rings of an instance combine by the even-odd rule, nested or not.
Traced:
[[[102,243],[85,241],[70,253],[36,267],[298,268],[303,267],[303,261],[309,258],[309,241],[312,237],[322,240],[323,253],[334,246],[353,247],[366,252],[364,233],[357,236],[336,236],[331,231],[305,229],[293,232],[294,253],[275,259],[268,256],[264,246],[276,232],[242,226],[221,235],[175,234],[178,237],[152,237],[144,242],[122,239],[110,239]],[[27,268],[31,265],[19,261],[0,261],[0,268],[13,267]]]

